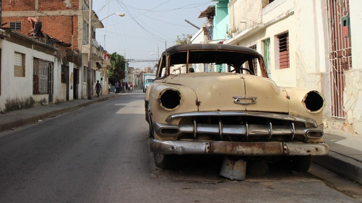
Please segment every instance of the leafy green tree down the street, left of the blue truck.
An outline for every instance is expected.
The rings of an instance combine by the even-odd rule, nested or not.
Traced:
[[[125,78],[125,57],[117,52],[111,53],[111,69],[109,70],[109,80],[111,83]]]

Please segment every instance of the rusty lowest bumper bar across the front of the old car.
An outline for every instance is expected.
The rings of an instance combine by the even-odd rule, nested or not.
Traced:
[[[151,152],[158,154],[215,154],[236,156],[323,156],[325,143],[160,141],[153,140]]]

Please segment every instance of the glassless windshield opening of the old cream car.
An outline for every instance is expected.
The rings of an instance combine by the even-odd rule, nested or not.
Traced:
[[[235,68],[245,68],[256,71],[255,61],[258,56],[250,53],[232,51],[190,51],[188,71],[187,51],[173,53],[170,56],[169,74],[181,74],[186,72],[231,72]],[[252,62],[252,63],[251,63]],[[250,74],[245,70],[235,70],[236,73]]]

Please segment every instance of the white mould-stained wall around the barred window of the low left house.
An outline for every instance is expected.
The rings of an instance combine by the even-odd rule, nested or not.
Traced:
[[[48,95],[33,95],[33,57],[54,62],[54,56],[1,41],[0,111],[12,111],[48,104]],[[14,52],[25,54],[25,77],[14,77]],[[31,85],[30,85],[31,84]]]

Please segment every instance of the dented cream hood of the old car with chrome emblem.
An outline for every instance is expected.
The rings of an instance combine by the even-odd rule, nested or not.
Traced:
[[[268,78],[208,72],[170,75],[162,82],[195,91],[198,111],[288,112],[286,92]],[[235,103],[235,97],[240,97],[239,103]],[[243,99],[245,97],[254,98],[256,103],[253,99]]]

